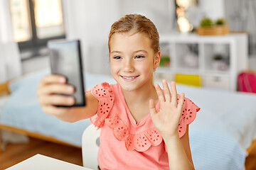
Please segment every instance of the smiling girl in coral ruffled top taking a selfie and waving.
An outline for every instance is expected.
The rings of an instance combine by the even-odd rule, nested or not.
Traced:
[[[132,14],[115,22],[109,35],[110,67],[117,84],[97,84],[86,92],[87,106],[73,105],[74,88],[58,75],[44,77],[38,87],[43,111],[60,120],[90,118],[100,134],[100,169],[194,169],[188,124],[200,108],[184,94],[171,91],[166,80],[153,85],[159,66],[159,34],[145,16]]]

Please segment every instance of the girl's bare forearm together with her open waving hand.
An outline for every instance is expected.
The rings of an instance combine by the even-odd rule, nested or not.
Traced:
[[[171,92],[166,80],[162,81],[164,92],[156,84],[156,93],[159,97],[160,108],[156,112],[155,102],[149,101],[151,120],[166,143],[169,158],[169,169],[194,169],[191,157],[191,149],[188,140],[188,126],[185,135],[178,136],[178,123],[184,102],[184,94],[181,94],[177,103],[177,91],[174,82],[171,82]]]

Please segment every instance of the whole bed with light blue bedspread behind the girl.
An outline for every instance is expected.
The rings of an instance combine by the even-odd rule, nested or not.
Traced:
[[[49,72],[44,69],[9,82],[10,94],[0,97],[0,128],[81,147],[82,132],[90,121],[65,123],[43,113],[38,104],[38,81]],[[115,83],[109,76],[85,74],[85,89],[102,81]],[[201,107],[189,129],[196,169],[245,169],[256,143],[256,94],[181,84],[177,90]]]

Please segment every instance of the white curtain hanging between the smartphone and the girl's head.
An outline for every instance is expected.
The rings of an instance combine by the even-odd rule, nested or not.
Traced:
[[[119,18],[118,0],[63,0],[68,39],[80,39],[86,72],[110,74],[107,40],[110,26]]]

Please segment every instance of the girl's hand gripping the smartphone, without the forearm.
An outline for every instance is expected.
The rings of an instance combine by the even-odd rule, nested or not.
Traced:
[[[60,94],[73,94],[74,91],[73,86],[66,84],[65,77],[50,74],[41,79],[36,94],[43,111],[50,115],[58,116],[66,113],[69,108],[61,108],[54,105],[72,106],[75,103],[75,98],[72,96]]]

